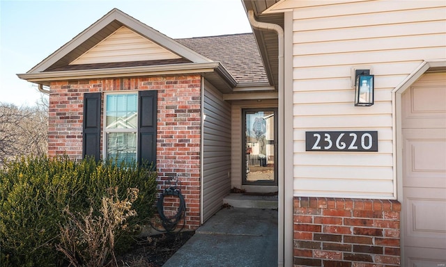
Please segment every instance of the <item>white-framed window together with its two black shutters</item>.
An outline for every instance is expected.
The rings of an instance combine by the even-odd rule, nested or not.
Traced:
[[[84,94],[83,156],[100,159],[101,93]],[[156,163],[157,91],[107,92],[103,158]]]

